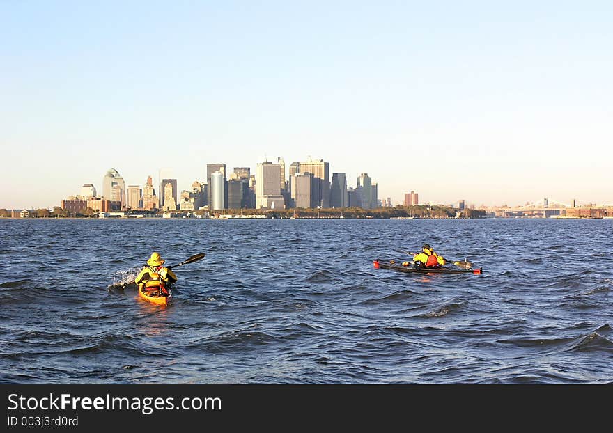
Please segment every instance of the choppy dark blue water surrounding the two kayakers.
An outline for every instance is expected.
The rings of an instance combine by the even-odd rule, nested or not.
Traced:
[[[0,221],[2,383],[613,382],[613,220]],[[373,269],[424,242],[485,274]],[[116,271],[160,251],[166,308]]]

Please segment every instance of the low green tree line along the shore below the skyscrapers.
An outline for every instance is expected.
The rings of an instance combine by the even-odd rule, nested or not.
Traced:
[[[464,209],[461,212],[455,207],[447,207],[442,205],[415,205],[415,206],[396,206],[396,207],[378,207],[376,209],[362,209],[362,207],[343,207],[332,209],[226,209],[226,210],[197,210],[197,211],[173,211],[173,214],[196,214],[200,217],[218,218],[224,214],[228,215],[263,215],[268,218],[347,218],[347,219],[389,219],[389,218],[485,218],[485,210]],[[126,210],[125,215],[139,216],[162,216],[164,211],[141,211],[141,210]],[[0,218],[15,218],[15,212],[6,209],[0,209]],[[87,208],[82,212],[72,212],[62,209],[59,206],[48,209],[28,210],[27,218],[98,218],[98,213]]]

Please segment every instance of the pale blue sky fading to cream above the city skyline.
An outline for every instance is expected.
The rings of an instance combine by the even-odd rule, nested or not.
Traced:
[[[0,0],[0,207],[324,159],[380,198],[613,203],[610,1]]]

